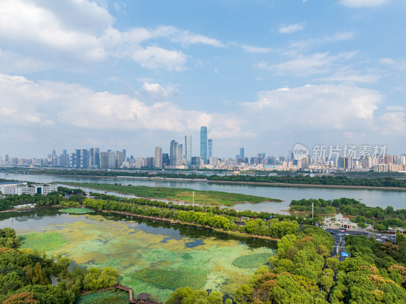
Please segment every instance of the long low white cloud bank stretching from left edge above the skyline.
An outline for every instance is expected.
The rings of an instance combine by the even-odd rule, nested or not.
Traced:
[[[186,132],[201,125],[216,129],[213,136],[251,136],[233,114],[182,110],[164,97],[177,94],[174,88],[144,83],[143,94],[161,96],[146,105],[136,98],[109,92],[95,92],[79,84],[29,81],[21,76],[0,74],[0,125],[53,125],[56,129],[81,127],[86,130],[165,130]],[[74,110],[73,110],[74,109]],[[57,118],[57,120],[52,120]]]

